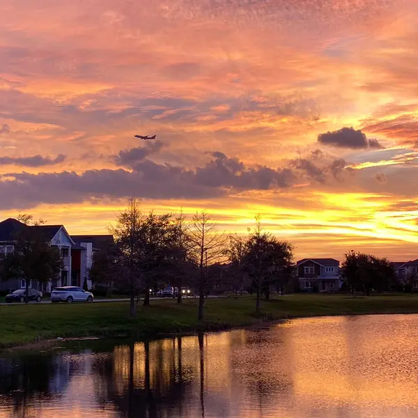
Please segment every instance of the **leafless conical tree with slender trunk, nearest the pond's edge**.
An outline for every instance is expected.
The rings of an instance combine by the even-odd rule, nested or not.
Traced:
[[[203,320],[205,293],[210,287],[208,267],[217,263],[224,256],[224,233],[217,231],[217,224],[206,211],[196,212],[190,229],[192,241],[192,257],[198,266],[196,274],[196,290],[199,294],[198,319]]]

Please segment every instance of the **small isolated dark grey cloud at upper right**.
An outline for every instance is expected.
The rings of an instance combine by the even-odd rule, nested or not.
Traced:
[[[382,148],[377,139],[367,139],[366,134],[353,127],[342,127],[336,131],[328,131],[318,135],[318,142],[323,145],[341,148]]]

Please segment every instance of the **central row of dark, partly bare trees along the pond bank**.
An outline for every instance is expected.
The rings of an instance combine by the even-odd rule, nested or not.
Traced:
[[[90,276],[95,284],[129,293],[131,316],[141,292],[147,306],[150,291],[171,284],[178,288],[178,303],[182,287],[194,288],[202,320],[205,296],[226,277],[231,290],[246,287],[256,293],[258,313],[261,295],[269,297],[270,287],[283,286],[292,274],[293,246],[263,231],[259,218],[247,237],[228,237],[207,212],[196,213],[188,222],[182,212],[145,214],[139,202],[130,199],[111,233],[115,243],[94,254]]]

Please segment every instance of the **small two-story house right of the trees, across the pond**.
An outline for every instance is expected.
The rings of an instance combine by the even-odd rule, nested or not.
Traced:
[[[296,263],[297,278],[302,291],[339,291],[339,261],[334,258],[303,258]]]

